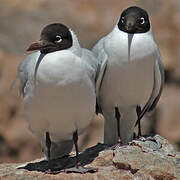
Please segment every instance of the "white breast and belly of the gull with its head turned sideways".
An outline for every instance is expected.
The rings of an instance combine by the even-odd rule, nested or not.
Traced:
[[[41,136],[48,131],[52,141],[69,140],[74,131],[81,133],[90,123],[95,112],[95,91],[86,68],[68,51],[43,58],[36,91],[32,97],[25,97],[30,129],[35,134]]]

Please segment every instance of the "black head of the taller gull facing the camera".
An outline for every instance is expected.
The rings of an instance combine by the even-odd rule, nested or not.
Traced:
[[[150,30],[148,13],[136,6],[129,7],[122,12],[118,28],[130,34],[148,32]]]

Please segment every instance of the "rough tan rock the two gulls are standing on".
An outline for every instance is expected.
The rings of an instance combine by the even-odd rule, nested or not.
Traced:
[[[36,160],[26,164],[1,164],[1,180],[56,180],[56,179],[180,179],[180,152],[176,152],[163,137],[155,140],[134,140],[115,150],[103,144],[86,149],[80,154],[81,164],[97,168],[97,172],[67,174],[64,168],[75,165],[75,157],[68,156],[52,161],[54,174],[48,174],[47,161]]]

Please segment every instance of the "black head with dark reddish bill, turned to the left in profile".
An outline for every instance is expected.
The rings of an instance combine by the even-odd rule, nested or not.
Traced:
[[[40,41],[29,46],[27,51],[40,50],[41,53],[50,53],[72,46],[72,35],[69,29],[59,23],[49,24],[41,31]]]

